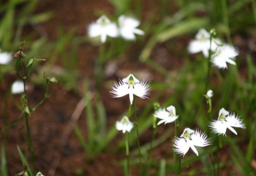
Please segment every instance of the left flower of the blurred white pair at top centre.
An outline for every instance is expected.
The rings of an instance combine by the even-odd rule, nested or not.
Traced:
[[[90,37],[101,36],[101,42],[105,43],[107,36],[113,38],[118,36],[118,28],[115,23],[111,23],[105,15],[102,15],[95,23],[89,25],[88,35]]]

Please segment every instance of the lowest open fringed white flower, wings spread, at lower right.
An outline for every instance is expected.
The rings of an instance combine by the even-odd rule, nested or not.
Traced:
[[[175,147],[174,151],[184,157],[189,148],[198,156],[195,146],[204,147],[207,145],[210,145],[210,138],[207,138],[205,133],[198,129],[194,131],[190,128],[185,128],[180,138],[175,137],[173,146]]]

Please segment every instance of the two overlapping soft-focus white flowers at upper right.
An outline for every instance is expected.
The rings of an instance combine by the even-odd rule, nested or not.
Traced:
[[[204,57],[209,57],[209,50],[213,52],[211,62],[219,69],[227,69],[227,63],[236,65],[234,57],[238,56],[238,51],[229,44],[222,44],[218,38],[212,38],[211,34],[205,29],[200,29],[195,35],[195,40],[189,43],[188,50],[190,53],[203,53]]]

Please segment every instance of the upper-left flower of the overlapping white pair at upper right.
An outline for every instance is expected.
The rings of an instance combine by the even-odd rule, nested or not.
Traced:
[[[212,51],[216,50],[218,46],[217,44],[221,44],[221,41],[217,38],[216,39],[213,38],[211,42]],[[205,29],[200,29],[198,33],[195,35],[195,40],[192,40],[189,43],[188,50],[192,54],[202,51],[204,57],[208,57],[209,49],[210,49],[210,33],[207,32]]]

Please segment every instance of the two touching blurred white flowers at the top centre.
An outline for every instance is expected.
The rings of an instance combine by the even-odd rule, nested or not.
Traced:
[[[102,15],[96,22],[88,27],[89,37],[101,36],[101,42],[105,43],[107,36],[116,38],[121,36],[126,40],[135,40],[135,34],[144,35],[144,32],[137,27],[140,22],[137,19],[121,15],[118,18],[118,25],[111,22],[108,17]]]

